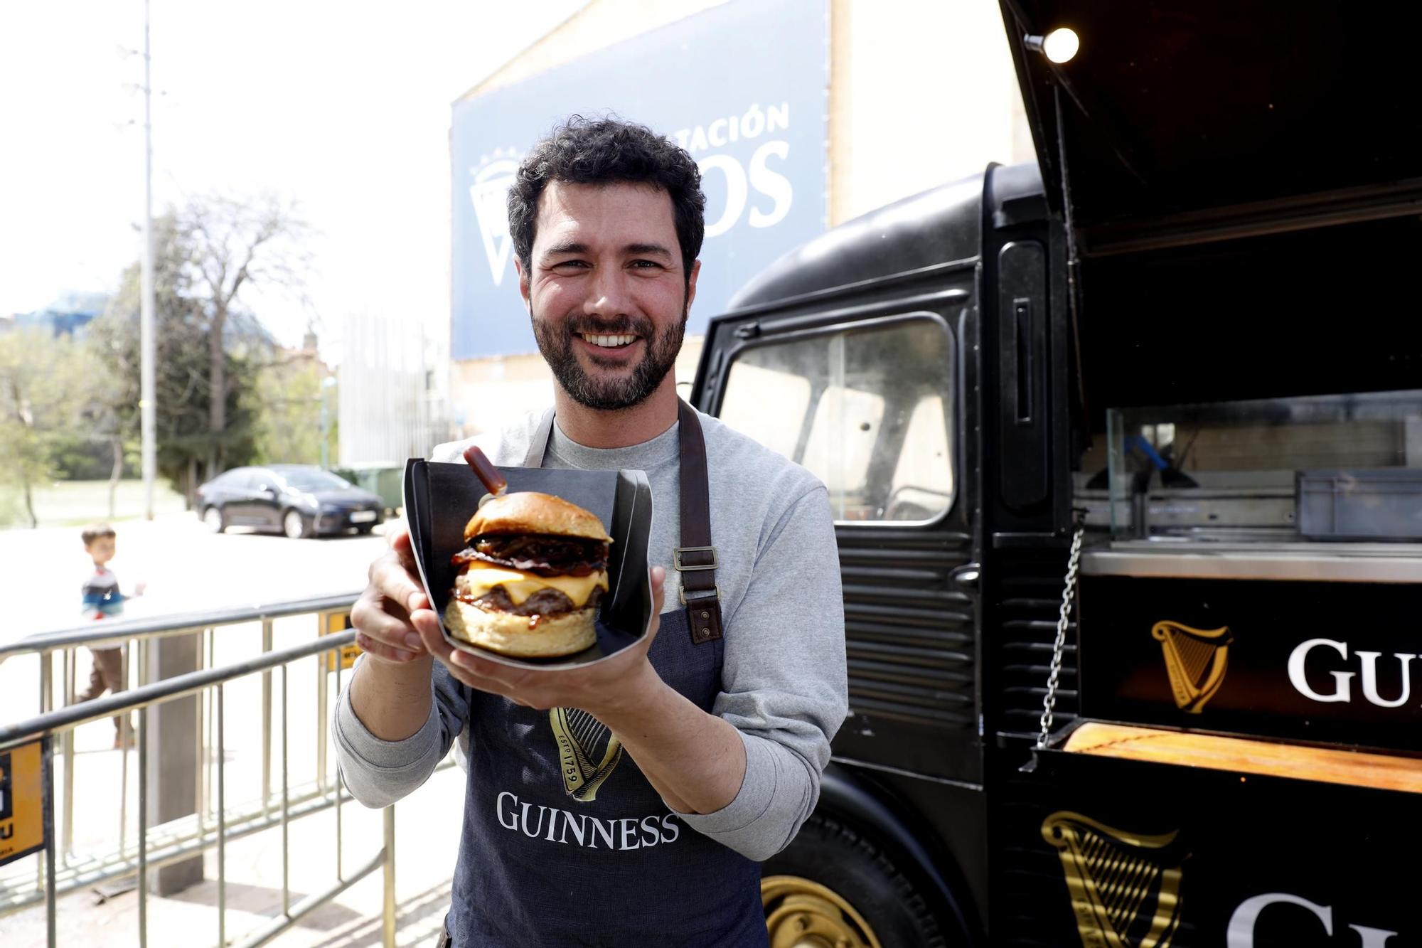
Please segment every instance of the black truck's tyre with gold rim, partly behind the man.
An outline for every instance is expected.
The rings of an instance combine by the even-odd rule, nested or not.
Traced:
[[[947,948],[919,885],[872,836],[812,813],[761,867],[771,948]]]

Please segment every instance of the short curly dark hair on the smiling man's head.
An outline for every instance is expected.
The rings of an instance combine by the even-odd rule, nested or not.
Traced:
[[[533,255],[538,202],[549,182],[647,184],[671,198],[671,215],[681,245],[685,279],[701,253],[705,235],[705,195],[701,169],[683,148],[646,125],[616,118],[572,115],[533,147],[509,188],[509,236],[528,273]]]

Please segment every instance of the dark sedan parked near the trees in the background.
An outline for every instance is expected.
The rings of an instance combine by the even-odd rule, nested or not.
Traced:
[[[215,532],[255,527],[293,539],[368,534],[384,514],[378,495],[310,464],[235,467],[198,488],[198,515]]]

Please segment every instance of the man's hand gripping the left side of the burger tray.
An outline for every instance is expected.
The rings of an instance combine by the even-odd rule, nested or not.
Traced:
[[[385,531],[390,549],[370,565],[370,585],[351,606],[356,645],[378,662],[402,665],[427,655],[419,639],[425,628],[438,635],[439,621],[419,585],[410,528]]]

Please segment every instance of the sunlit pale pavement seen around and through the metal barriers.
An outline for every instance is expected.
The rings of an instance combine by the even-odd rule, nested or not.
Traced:
[[[208,532],[192,514],[159,515],[154,521],[122,521],[118,557],[112,568],[125,588],[138,581],[148,592],[134,599],[128,616],[186,612],[274,602],[323,594],[353,592],[364,585],[370,561],[385,548],[383,537],[287,539],[257,534]],[[78,586],[90,568],[77,527],[0,531],[0,576],[4,576],[9,621],[0,625],[0,642],[33,632],[75,625]],[[310,641],[317,633],[311,616],[292,616],[274,623],[274,646]],[[260,626],[219,629],[213,639],[213,665],[222,666],[260,652]],[[61,668],[55,662],[55,673]],[[85,649],[75,655],[75,679],[88,679]],[[317,703],[314,658],[293,663],[287,693],[287,759],[292,784],[313,780],[321,759],[317,722],[328,715]],[[348,673],[344,676],[348,679]],[[61,679],[57,688],[63,695]],[[327,675],[334,700],[334,676]],[[229,810],[260,796],[260,676],[225,686],[225,787]],[[280,675],[273,675],[273,781],[280,787]],[[33,716],[38,709],[37,659],[17,656],[0,663],[0,722]],[[112,850],[118,837],[121,787],[127,776],[127,838],[137,836],[135,752],[112,749],[112,725],[92,722],[77,729],[74,744],[73,853]],[[213,759],[215,759],[215,739]],[[127,774],[124,760],[127,756]],[[336,756],[327,750],[326,773],[336,779]],[[215,774],[215,767],[212,773]],[[55,757],[55,794],[63,800],[64,757]],[[213,790],[215,796],[215,790]],[[432,945],[448,907],[449,880],[458,851],[462,814],[462,773],[437,773],[395,806],[397,944]],[[367,861],[381,847],[381,814],[347,801],[341,809],[343,864],[347,871]],[[60,820],[61,821],[61,820]],[[63,830],[60,830],[63,833]],[[336,878],[336,817],[327,810],[290,823],[287,877],[292,904],[330,885]],[[228,846],[226,934],[240,941],[282,912],[282,833],[264,830]],[[17,873],[31,874],[36,857],[0,868],[0,887]],[[218,941],[216,851],[205,857],[205,881],[168,898],[149,897],[148,944],[152,947],[212,945]],[[377,870],[344,894],[277,937],[273,945],[334,948],[380,945],[383,877]],[[58,902],[58,945],[134,945],[138,941],[138,894],[104,895],[78,890]],[[26,948],[46,944],[44,907],[0,917],[0,945]]]

